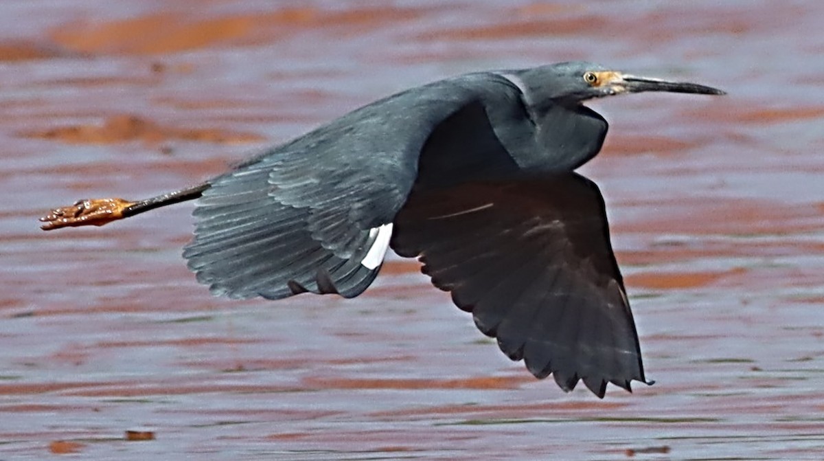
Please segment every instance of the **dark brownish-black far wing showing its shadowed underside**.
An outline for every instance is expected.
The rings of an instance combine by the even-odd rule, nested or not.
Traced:
[[[574,173],[415,190],[391,247],[418,256],[475,325],[565,391],[644,381],[597,186]]]

